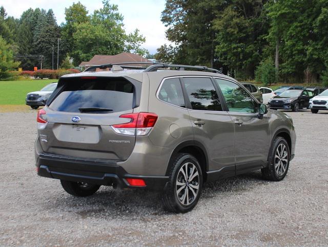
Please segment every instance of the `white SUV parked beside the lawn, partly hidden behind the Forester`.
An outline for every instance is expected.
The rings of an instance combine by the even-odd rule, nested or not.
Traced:
[[[57,86],[57,82],[50,83],[42,88],[40,91],[28,93],[26,95],[26,105],[31,106],[32,109],[37,109],[39,106],[46,105],[46,102],[54,89]]]

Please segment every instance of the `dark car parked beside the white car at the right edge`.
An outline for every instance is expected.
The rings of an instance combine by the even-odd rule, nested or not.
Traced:
[[[299,109],[309,108],[309,101],[313,97],[313,92],[306,89],[288,89],[271,98],[268,105],[270,109],[299,111]]]

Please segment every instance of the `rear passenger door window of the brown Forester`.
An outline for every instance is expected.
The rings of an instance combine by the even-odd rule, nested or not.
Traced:
[[[210,78],[183,78],[191,106],[195,110],[222,110]]]

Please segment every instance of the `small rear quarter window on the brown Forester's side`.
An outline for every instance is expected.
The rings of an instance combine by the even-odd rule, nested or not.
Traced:
[[[165,80],[158,93],[158,98],[173,105],[186,107],[180,80],[178,78]]]

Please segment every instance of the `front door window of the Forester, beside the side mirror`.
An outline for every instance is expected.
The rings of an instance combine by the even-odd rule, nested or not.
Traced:
[[[241,86],[222,79],[216,79],[216,82],[226,99],[229,111],[257,113],[257,103]]]

